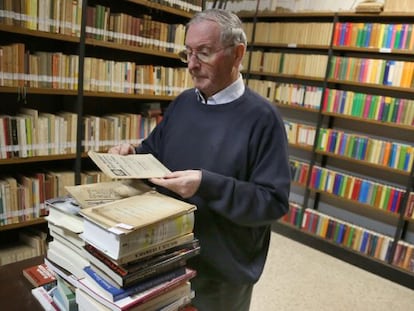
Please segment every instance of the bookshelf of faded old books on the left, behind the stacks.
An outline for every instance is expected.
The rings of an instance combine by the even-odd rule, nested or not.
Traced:
[[[87,151],[138,143],[188,87],[176,53],[183,47],[185,23],[203,3],[30,4],[4,1],[0,7],[0,235],[5,240],[25,228],[47,230],[45,199],[65,194],[65,185],[104,180]],[[9,136],[12,119],[21,126],[13,125],[15,140],[11,131]],[[5,177],[15,179],[12,191]]]

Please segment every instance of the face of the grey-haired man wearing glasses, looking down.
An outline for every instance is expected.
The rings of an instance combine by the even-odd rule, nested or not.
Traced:
[[[203,21],[192,24],[187,30],[186,42],[188,69],[194,86],[206,97],[210,97],[230,85],[238,71],[232,47],[222,46],[220,30],[216,23]],[[208,56],[208,61],[200,61],[194,54]]]

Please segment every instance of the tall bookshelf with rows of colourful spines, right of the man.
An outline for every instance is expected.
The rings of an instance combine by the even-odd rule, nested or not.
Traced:
[[[246,81],[290,145],[291,209],[274,230],[414,288],[413,17],[239,15]]]

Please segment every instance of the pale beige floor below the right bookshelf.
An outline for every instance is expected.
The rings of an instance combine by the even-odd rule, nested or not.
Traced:
[[[414,291],[272,233],[251,311],[414,310]]]

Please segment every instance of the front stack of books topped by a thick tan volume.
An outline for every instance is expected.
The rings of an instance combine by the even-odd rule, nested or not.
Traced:
[[[93,302],[111,310],[168,305],[176,310],[188,304],[196,272],[186,261],[200,251],[192,233],[194,209],[152,190],[82,209],[90,265],[78,280],[78,304],[92,308],[88,302]]]

